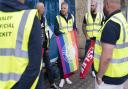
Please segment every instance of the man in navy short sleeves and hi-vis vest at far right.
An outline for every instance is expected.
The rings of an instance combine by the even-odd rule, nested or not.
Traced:
[[[104,0],[106,22],[94,51],[95,89],[124,89],[128,79],[128,23],[121,0]]]

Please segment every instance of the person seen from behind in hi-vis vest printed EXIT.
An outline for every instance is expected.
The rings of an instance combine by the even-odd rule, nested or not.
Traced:
[[[37,10],[24,0],[1,0],[0,7],[0,89],[44,89],[37,86],[42,55]]]

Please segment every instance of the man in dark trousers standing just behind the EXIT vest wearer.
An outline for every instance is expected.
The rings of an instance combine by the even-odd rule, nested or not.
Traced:
[[[55,84],[54,76],[52,73],[52,64],[50,62],[49,58],[49,43],[50,43],[50,33],[48,29],[48,24],[46,21],[46,18],[44,17],[44,4],[42,2],[38,2],[36,6],[39,17],[40,17],[40,22],[41,22],[41,31],[42,31],[42,51],[43,51],[43,62],[45,63],[45,68],[46,68],[46,73],[48,74],[48,80],[50,83],[50,89],[59,89],[59,87]]]

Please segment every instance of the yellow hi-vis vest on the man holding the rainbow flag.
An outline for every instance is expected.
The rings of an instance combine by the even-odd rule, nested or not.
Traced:
[[[59,31],[63,32],[63,33],[67,33],[68,31],[72,31],[73,30],[73,24],[74,24],[74,16],[71,15],[72,18],[68,20],[68,23],[66,22],[66,20],[60,16],[57,15],[57,21],[59,23]]]

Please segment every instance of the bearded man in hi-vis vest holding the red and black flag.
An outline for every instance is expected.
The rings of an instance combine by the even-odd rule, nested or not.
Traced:
[[[103,24],[103,15],[101,12],[97,12],[97,1],[91,0],[91,11],[85,13],[82,30],[86,38],[85,44],[85,57],[88,49],[91,45],[91,39],[97,37],[101,25]],[[94,67],[92,65],[92,76],[95,77]]]

